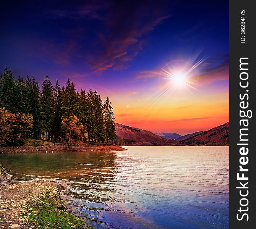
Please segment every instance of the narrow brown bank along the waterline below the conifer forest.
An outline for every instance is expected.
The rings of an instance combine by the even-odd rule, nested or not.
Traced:
[[[66,145],[46,145],[46,146],[3,146],[0,153],[54,153],[54,152],[108,152],[123,151],[125,148],[117,145],[90,145],[72,146]]]

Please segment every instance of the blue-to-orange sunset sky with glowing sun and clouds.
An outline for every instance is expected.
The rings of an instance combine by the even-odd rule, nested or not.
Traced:
[[[229,121],[228,1],[5,1],[0,71],[91,87],[128,126],[181,135]]]

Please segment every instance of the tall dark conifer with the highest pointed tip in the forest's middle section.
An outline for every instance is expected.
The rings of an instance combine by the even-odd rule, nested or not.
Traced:
[[[52,125],[54,122],[54,101],[52,82],[50,81],[48,75],[45,76],[42,85],[40,116],[41,130],[45,135],[43,138],[45,140],[49,140],[49,133],[52,132]]]

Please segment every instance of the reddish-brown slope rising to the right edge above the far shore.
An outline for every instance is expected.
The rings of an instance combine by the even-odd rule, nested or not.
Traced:
[[[178,145],[229,145],[229,122],[181,140]]]

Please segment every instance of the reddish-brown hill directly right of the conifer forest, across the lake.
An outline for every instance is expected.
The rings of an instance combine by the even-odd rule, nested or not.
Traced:
[[[150,131],[116,123],[116,134],[122,145],[176,145],[177,141],[165,139]]]

